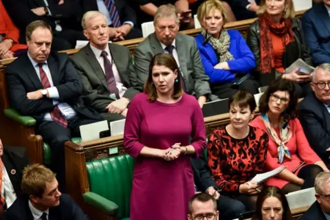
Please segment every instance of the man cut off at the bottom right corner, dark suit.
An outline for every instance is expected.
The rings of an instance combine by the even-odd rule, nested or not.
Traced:
[[[330,173],[319,173],[315,178],[316,201],[300,220],[330,219]]]

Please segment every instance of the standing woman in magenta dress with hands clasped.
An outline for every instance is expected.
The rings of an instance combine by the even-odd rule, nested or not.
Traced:
[[[124,148],[135,157],[131,220],[187,217],[195,193],[189,156],[203,153],[206,132],[201,108],[194,96],[184,94],[180,78],[173,56],[156,54],[144,93],[129,106]]]

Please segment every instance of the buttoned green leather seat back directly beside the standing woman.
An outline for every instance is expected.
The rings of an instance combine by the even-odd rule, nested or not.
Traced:
[[[129,218],[134,159],[130,155],[87,162],[89,188],[118,205],[117,218]]]

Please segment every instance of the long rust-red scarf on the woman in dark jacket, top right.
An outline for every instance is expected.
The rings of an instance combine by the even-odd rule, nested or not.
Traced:
[[[259,17],[260,23],[260,65],[259,71],[268,74],[275,67],[273,44],[271,33],[282,36],[283,45],[288,45],[294,41],[292,32],[292,20],[282,18],[280,23],[274,23],[267,13]]]

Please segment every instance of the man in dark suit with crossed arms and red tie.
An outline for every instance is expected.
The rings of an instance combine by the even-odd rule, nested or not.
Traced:
[[[5,69],[12,107],[36,119],[36,134],[52,148],[52,170],[61,190],[65,186],[64,144],[79,136],[79,126],[102,120],[84,106],[83,86],[65,53],[50,54],[52,30],[44,21],[26,28],[28,53]]]

